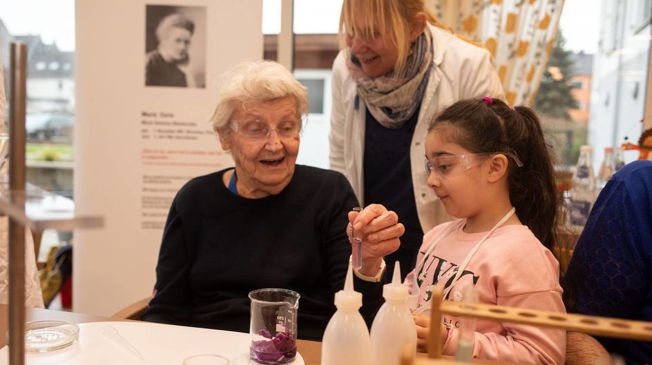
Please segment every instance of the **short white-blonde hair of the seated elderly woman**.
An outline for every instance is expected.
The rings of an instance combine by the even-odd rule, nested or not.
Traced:
[[[215,132],[227,131],[236,102],[271,101],[291,97],[296,103],[296,117],[308,112],[307,89],[294,75],[273,61],[243,62],[222,75],[222,88],[211,121]]]

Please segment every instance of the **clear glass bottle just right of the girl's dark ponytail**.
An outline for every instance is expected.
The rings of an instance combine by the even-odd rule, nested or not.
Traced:
[[[573,173],[573,187],[569,192],[568,227],[576,232],[581,232],[591,212],[595,200],[595,175],[591,146],[582,146],[579,150],[579,159]]]

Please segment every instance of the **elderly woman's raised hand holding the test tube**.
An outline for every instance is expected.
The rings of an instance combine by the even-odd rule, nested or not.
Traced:
[[[362,268],[359,273],[375,276],[381,267],[381,260],[399,248],[399,237],[405,233],[405,227],[399,223],[399,217],[392,210],[381,204],[371,204],[362,212],[349,212],[347,235],[349,242],[356,244],[353,230],[363,233]]]

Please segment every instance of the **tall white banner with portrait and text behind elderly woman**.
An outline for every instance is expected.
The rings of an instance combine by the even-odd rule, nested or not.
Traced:
[[[262,0],[76,1],[73,310],[151,295],[168,210],[233,166],[213,131],[220,76],[262,58]]]

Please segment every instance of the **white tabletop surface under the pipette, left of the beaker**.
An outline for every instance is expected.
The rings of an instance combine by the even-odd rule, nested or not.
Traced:
[[[111,324],[140,351],[147,362],[102,335]],[[183,359],[202,353],[231,359],[231,365],[249,364],[249,334],[148,322],[89,322],[79,324],[79,340],[67,348],[27,354],[28,365],[181,365]],[[8,364],[8,348],[0,349],[0,365]],[[251,364],[255,364],[251,362]],[[305,365],[299,353],[291,365]]]

